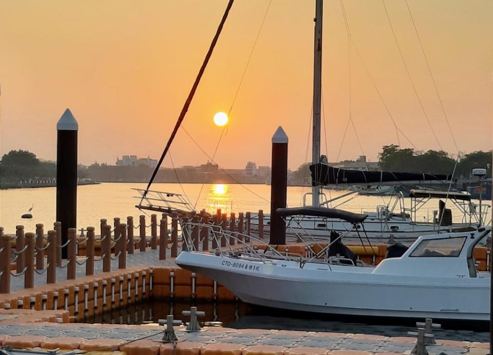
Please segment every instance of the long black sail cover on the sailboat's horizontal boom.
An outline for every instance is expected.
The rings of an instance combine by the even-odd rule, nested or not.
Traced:
[[[310,165],[312,173],[312,184],[329,185],[329,184],[379,184],[379,183],[402,183],[402,182],[420,182],[420,181],[437,181],[450,182],[451,175],[444,174],[421,174],[421,173],[393,173],[379,171],[347,170],[338,167],[329,166],[324,163]]]

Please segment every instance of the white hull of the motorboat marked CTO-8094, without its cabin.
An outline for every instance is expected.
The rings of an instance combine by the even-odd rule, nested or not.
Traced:
[[[181,253],[176,263],[260,306],[378,317],[489,319],[489,278],[432,277],[430,284],[418,277],[373,274],[371,268],[332,266],[331,271],[327,264],[317,263],[305,269],[296,263],[290,266],[293,261],[282,261],[283,267],[189,252]]]

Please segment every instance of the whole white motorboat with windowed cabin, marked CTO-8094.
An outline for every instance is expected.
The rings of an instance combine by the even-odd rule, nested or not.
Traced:
[[[289,216],[289,210],[277,212]],[[338,216],[352,225],[366,218],[325,210],[320,214]],[[240,300],[255,305],[332,314],[487,321],[490,274],[476,271],[473,249],[490,232],[490,227],[482,227],[424,235],[401,257],[368,267],[331,253],[342,236],[306,258],[283,255],[260,240],[252,246],[243,241],[244,236],[216,227],[210,235],[220,239],[226,233],[229,248],[201,252],[187,242],[190,248],[176,258],[176,264],[214,279]],[[238,246],[229,244],[232,238]]]

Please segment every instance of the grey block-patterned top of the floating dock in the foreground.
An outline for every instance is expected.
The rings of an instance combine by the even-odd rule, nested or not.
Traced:
[[[6,320],[5,322],[9,322]],[[108,324],[1,324],[0,334],[11,336],[31,335],[46,338],[70,337],[87,340],[107,339],[130,342],[146,338],[147,340],[160,341],[163,337],[163,328],[156,326],[116,326]],[[180,342],[198,342],[202,344],[240,344],[274,345],[286,348],[312,347],[326,350],[359,350],[372,353],[404,353],[410,352],[413,343],[394,341],[392,339],[358,339],[352,338],[352,334],[340,333],[324,336],[323,333],[314,335],[306,332],[282,333],[282,331],[258,330],[255,332],[236,331],[224,328],[205,329],[202,332],[190,333],[183,331],[183,327],[176,328],[176,335]],[[467,343],[465,343],[467,344]],[[483,346],[483,344],[480,344]],[[448,355],[460,355],[468,353],[477,355],[474,348],[467,346],[433,345],[428,346],[430,353],[445,352]]]

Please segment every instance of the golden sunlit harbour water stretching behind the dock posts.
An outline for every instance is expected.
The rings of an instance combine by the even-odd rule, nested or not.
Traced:
[[[113,217],[138,217],[142,214],[135,205],[139,202],[138,193],[132,189],[145,189],[146,183],[102,183],[97,185],[79,186],[77,228],[99,226],[99,220]],[[182,193],[182,188],[196,210],[205,208],[209,212],[221,208],[223,212],[247,212],[263,209],[269,212],[271,186],[269,185],[239,185],[239,184],[182,184],[155,183],[153,190]],[[202,191],[201,191],[202,190]],[[289,186],[288,205],[296,207],[303,203],[303,195],[310,188]],[[325,191],[327,198],[346,193],[346,191]],[[55,221],[56,188],[10,189],[0,190],[0,226],[6,233],[14,233],[16,225],[24,225],[26,231],[34,231],[36,223],[44,223],[45,230],[53,226]],[[377,205],[393,204],[390,197],[359,196],[352,199],[344,208],[352,212],[375,211]],[[307,202],[310,203],[308,197]],[[336,201],[339,203],[339,201]],[[32,219],[22,219],[34,204]],[[406,207],[410,207],[410,199],[405,199]],[[333,207],[336,207],[334,204]],[[449,206],[450,207],[450,206]],[[432,211],[438,209],[438,201],[429,201],[419,213],[419,220],[431,218]],[[147,211],[147,213],[149,213]],[[460,213],[452,212],[454,221],[460,221]]]

